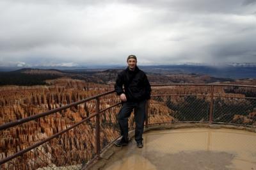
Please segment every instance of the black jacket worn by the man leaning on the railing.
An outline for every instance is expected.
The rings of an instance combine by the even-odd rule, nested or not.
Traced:
[[[151,88],[147,75],[136,66],[134,71],[127,67],[118,74],[115,91],[117,95],[125,93],[128,102],[139,102],[150,98]]]

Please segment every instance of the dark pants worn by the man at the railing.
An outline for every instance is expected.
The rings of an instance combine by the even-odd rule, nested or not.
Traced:
[[[128,118],[131,116],[132,109],[134,109],[135,117],[135,141],[141,143],[143,141],[142,134],[145,121],[145,106],[147,100],[141,102],[124,102],[120,112],[118,113],[118,123],[120,126],[121,135],[124,141],[128,141]]]

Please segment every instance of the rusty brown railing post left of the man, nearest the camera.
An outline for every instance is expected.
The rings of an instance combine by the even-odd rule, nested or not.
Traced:
[[[96,154],[100,155],[100,100],[96,98],[96,133],[95,133],[95,146]]]

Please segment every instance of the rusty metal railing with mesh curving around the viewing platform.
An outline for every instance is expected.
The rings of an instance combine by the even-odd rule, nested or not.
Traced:
[[[88,166],[120,136],[116,118],[120,104],[114,91],[109,91],[0,125],[0,167],[81,169]],[[256,127],[256,86],[156,84],[152,86],[146,109],[146,127],[175,122]],[[133,118],[132,115],[129,119],[130,130],[134,127]]]

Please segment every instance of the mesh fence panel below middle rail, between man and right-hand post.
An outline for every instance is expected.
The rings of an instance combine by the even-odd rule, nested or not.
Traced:
[[[148,124],[209,121],[209,97],[157,96],[150,99]]]

